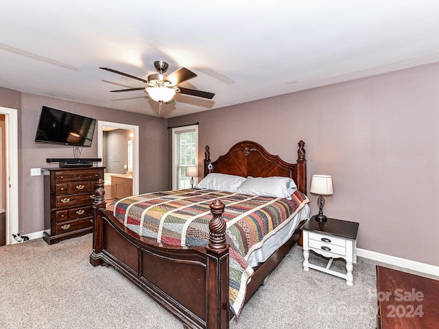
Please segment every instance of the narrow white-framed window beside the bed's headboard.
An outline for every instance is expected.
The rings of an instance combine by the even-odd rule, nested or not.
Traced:
[[[186,167],[198,165],[198,125],[187,125],[172,129],[172,189],[191,187],[191,178],[186,176]],[[195,184],[197,178],[195,178]]]

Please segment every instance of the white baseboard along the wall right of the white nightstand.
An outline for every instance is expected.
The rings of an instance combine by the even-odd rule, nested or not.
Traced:
[[[433,274],[434,276],[439,276],[439,267],[419,263],[414,260],[380,254],[379,252],[370,252],[369,250],[359,248],[357,249],[357,256],[377,260],[390,265],[396,265],[405,269],[412,269],[413,271],[420,271],[423,273]]]

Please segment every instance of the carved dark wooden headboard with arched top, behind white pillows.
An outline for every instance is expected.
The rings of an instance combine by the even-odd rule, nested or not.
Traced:
[[[307,193],[307,160],[305,142],[298,142],[297,163],[288,163],[279,156],[268,153],[261,145],[242,141],[231,147],[226,154],[211,161],[209,146],[204,152],[204,176],[208,173],[228,173],[242,177],[289,177],[296,182],[299,191]],[[209,166],[211,164],[211,166]]]

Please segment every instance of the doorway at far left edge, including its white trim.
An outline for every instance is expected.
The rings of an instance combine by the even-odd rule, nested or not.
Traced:
[[[15,243],[12,234],[19,233],[19,129],[18,111],[0,107],[1,125],[1,210],[5,215],[6,245]]]

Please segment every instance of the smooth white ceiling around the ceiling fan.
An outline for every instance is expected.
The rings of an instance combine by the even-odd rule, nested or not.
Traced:
[[[1,0],[0,86],[158,116],[154,61],[198,77],[162,117],[439,62],[439,1]],[[42,104],[43,105],[43,104]]]

